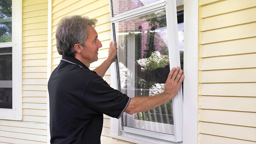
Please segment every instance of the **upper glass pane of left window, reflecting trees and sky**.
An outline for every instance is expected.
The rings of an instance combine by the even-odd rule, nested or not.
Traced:
[[[12,0],[0,2],[0,43],[12,42]]]

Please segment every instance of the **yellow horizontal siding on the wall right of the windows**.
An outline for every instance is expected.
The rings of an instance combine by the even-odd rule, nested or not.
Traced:
[[[255,14],[255,0],[199,0],[199,144],[256,142]]]

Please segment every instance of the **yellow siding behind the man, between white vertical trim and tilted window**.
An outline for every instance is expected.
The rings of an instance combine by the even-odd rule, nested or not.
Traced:
[[[65,16],[69,15],[84,15],[89,18],[96,18],[98,23],[95,27],[98,32],[98,38],[102,43],[99,49],[98,61],[90,65],[93,70],[100,66],[100,64],[108,58],[108,49],[111,38],[110,33],[110,12],[109,1],[107,0],[53,0],[52,1],[52,71],[56,68],[61,59],[61,55],[56,49],[56,29],[58,22]],[[110,82],[110,68],[103,77],[108,84]],[[123,141],[116,141],[110,138],[110,117],[104,115],[103,129],[101,133],[101,143],[124,143]]]

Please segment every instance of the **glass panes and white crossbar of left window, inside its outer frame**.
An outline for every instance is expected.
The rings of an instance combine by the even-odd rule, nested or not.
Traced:
[[[1,2],[0,9],[0,108],[12,108],[12,1]]]

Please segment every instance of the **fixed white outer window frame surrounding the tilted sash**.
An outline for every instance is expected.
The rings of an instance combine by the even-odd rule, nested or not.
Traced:
[[[110,1],[111,2],[111,1]],[[110,3],[111,4],[111,3]],[[111,7],[110,7],[111,12]],[[188,21],[188,22],[187,22]],[[111,22],[112,24],[112,22]],[[111,27],[112,28],[112,27]],[[111,29],[111,32],[113,29]],[[113,36],[112,36],[113,39]],[[147,133],[133,134],[121,131],[121,119],[110,119],[110,136],[134,143],[197,143],[197,86],[198,86],[198,1],[184,1],[184,91],[183,141],[173,142],[152,137]],[[116,64],[111,65],[111,87],[117,89]],[[182,112],[180,113],[182,114]],[[157,136],[156,136],[157,137]]]

